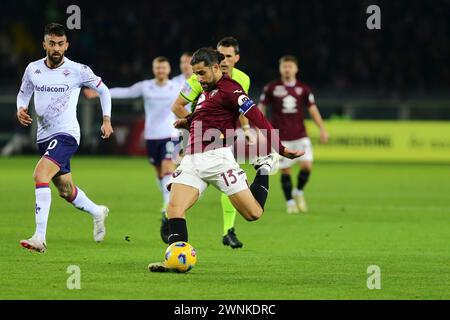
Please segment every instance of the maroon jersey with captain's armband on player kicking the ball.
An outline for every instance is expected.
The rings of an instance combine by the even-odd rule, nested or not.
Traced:
[[[223,75],[217,81],[214,90],[202,92],[195,112],[188,116],[190,131],[186,154],[232,145],[236,121],[240,114],[244,114],[258,128],[266,129],[269,141],[276,143],[274,147],[280,151],[284,150],[277,132],[274,132],[272,125],[247,96],[241,85],[228,75]]]

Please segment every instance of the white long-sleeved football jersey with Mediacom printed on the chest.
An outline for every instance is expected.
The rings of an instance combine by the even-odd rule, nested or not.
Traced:
[[[45,58],[31,62],[22,78],[17,107],[28,107],[34,93],[37,114],[37,142],[44,142],[58,134],[69,134],[80,143],[77,103],[81,87],[95,89],[101,78],[83,64],[64,57],[57,68],[50,69]]]

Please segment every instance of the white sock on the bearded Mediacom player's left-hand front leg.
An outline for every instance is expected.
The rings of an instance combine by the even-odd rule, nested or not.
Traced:
[[[45,241],[47,233],[47,221],[50,213],[50,204],[52,202],[52,192],[48,183],[36,184],[36,232],[35,235]]]

